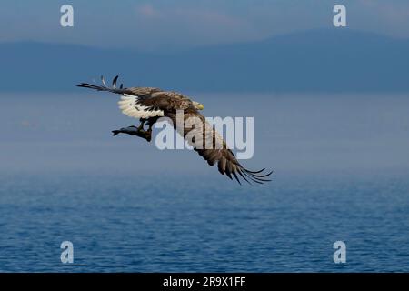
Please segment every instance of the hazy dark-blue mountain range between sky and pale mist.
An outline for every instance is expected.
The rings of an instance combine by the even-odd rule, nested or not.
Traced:
[[[177,91],[409,91],[409,40],[339,28],[184,52],[166,53],[164,47],[155,54],[2,43],[0,60],[3,92],[71,91],[80,82],[99,82],[100,75],[120,75],[125,86]]]

